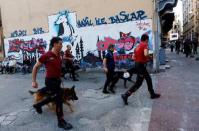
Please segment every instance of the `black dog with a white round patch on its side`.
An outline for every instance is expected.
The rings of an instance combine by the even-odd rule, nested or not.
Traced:
[[[114,77],[113,77],[113,83],[114,85],[119,81],[119,79],[124,80],[124,88],[127,88],[126,83],[127,81],[135,83],[131,78],[133,74],[136,73],[136,70],[134,67],[128,69],[127,71],[115,71]]]

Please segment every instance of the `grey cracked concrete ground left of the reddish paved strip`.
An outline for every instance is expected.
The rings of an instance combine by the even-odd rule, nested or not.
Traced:
[[[126,89],[123,81],[117,83],[116,94],[102,94],[105,74],[101,70],[80,72],[80,81],[64,81],[65,86],[76,86],[79,100],[71,113],[64,106],[65,119],[74,129],[72,131],[147,131],[150,121],[152,100],[146,84],[124,106],[121,93]],[[61,131],[57,127],[55,113],[43,108],[39,115],[32,109],[33,98],[28,94],[31,89],[31,75],[0,75],[0,130],[1,131]],[[40,87],[44,75],[38,76]],[[153,75],[155,83],[155,76]],[[14,85],[14,86],[13,86]],[[128,82],[129,87],[132,83]]]

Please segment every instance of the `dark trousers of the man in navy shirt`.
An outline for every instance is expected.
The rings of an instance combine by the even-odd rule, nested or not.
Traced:
[[[115,72],[111,71],[111,70],[108,70],[108,72],[106,73],[106,81],[105,81],[105,84],[104,84],[103,91],[107,91],[107,87],[113,81],[114,73]],[[113,88],[113,86],[114,86],[114,82],[111,84],[110,88]]]

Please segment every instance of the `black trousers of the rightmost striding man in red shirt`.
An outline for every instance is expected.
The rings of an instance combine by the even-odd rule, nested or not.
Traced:
[[[135,70],[136,70],[136,74],[137,74],[136,82],[125,94],[127,96],[130,96],[133,92],[135,92],[136,90],[138,90],[141,87],[143,80],[145,79],[147,82],[148,91],[149,91],[150,95],[153,95],[154,90],[153,90],[152,80],[151,80],[151,77],[146,69],[146,64],[136,62]]]

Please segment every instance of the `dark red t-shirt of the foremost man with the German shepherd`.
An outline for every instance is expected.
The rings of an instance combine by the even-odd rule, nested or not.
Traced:
[[[46,78],[61,77],[61,57],[55,55],[52,51],[48,51],[39,58],[39,62],[46,67]]]

